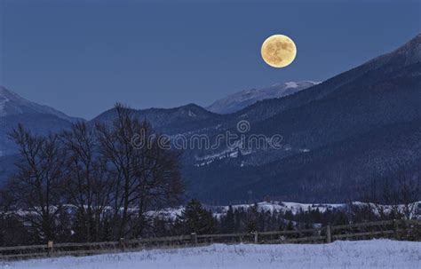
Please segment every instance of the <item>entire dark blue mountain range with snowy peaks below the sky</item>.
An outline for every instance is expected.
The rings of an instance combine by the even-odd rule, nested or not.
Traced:
[[[5,133],[14,124],[45,133],[77,119],[22,101],[4,88],[0,93],[1,177],[2,170],[10,173],[14,149]],[[372,179],[421,170],[421,35],[322,83],[240,91],[207,108],[189,104],[133,113],[156,131],[206,135],[211,141],[226,131],[238,133],[237,123],[247,121],[250,130],[243,135],[281,135],[283,146],[243,148],[238,140],[234,147],[185,150],[188,196],[214,204],[265,196],[297,202],[358,199]],[[110,123],[114,115],[111,108],[88,124]]]

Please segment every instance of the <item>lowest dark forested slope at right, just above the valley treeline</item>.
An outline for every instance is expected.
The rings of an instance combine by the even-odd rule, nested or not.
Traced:
[[[262,166],[238,163],[187,167],[191,195],[206,202],[244,202],[266,195],[299,202],[358,199],[372,178],[411,170],[421,162],[421,119],[394,123]]]

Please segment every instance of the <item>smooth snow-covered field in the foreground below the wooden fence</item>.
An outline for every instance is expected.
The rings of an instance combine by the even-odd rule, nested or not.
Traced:
[[[372,240],[330,244],[223,245],[154,249],[91,257],[1,263],[7,269],[125,268],[421,268],[421,242]]]

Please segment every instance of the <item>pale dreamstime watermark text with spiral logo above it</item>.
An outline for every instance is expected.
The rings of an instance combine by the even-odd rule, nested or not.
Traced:
[[[131,146],[136,149],[143,149],[145,147],[152,148],[158,146],[162,149],[197,149],[197,150],[214,150],[221,146],[242,150],[251,149],[282,149],[283,137],[280,134],[274,134],[267,137],[264,134],[249,133],[251,130],[248,121],[239,121],[236,124],[234,131],[227,130],[223,133],[209,136],[207,134],[178,134],[169,136],[166,134],[151,134],[147,135],[144,130],[135,134],[131,138]]]

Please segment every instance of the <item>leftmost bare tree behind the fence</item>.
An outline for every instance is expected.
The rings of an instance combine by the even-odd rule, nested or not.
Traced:
[[[55,135],[41,137],[18,125],[10,138],[19,146],[18,171],[9,182],[15,213],[38,231],[42,241],[54,239],[62,212],[63,158]]]

